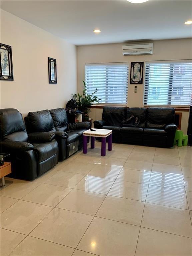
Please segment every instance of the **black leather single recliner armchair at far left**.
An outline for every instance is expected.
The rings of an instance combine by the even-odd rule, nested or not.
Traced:
[[[1,109],[1,153],[10,154],[10,177],[34,180],[58,163],[58,144],[54,133],[28,136],[17,109]]]

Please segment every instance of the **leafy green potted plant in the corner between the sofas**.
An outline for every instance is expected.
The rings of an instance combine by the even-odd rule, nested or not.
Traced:
[[[78,110],[83,112],[83,121],[88,121],[89,120],[89,113],[91,111],[89,109],[89,107],[91,105],[93,105],[93,103],[95,103],[95,102],[99,103],[99,101],[101,99],[99,99],[95,95],[95,93],[97,92],[97,89],[92,94],[88,94],[85,81],[83,81],[83,84],[84,84],[84,89],[82,91],[82,95],[80,95],[79,93],[77,93],[77,94],[73,93],[72,97],[77,102]]]

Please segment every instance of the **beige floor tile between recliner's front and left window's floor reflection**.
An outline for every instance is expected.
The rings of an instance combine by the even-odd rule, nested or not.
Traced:
[[[84,176],[85,175],[83,174],[58,171],[46,180],[45,183],[66,188],[74,188]]]

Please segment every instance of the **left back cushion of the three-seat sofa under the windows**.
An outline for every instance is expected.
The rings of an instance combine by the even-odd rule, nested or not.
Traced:
[[[112,117],[112,120],[111,120],[111,117]],[[125,118],[126,118],[126,107],[103,107],[102,119],[106,121],[107,124],[119,126],[120,123],[123,120],[125,120]]]

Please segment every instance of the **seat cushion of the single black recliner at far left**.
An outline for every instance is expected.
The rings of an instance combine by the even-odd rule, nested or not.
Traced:
[[[32,143],[37,161],[42,162],[58,152],[58,144],[55,140],[45,143]]]

